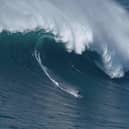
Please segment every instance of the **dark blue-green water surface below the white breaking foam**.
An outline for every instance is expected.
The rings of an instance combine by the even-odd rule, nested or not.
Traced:
[[[128,11],[127,0],[120,4]],[[0,129],[129,129],[128,72],[111,79],[93,62],[96,52],[68,53],[51,37],[40,29],[0,33]]]

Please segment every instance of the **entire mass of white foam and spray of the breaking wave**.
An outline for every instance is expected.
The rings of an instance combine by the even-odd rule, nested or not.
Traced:
[[[0,32],[43,29],[68,52],[97,52],[96,65],[111,78],[129,70],[128,24],[128,12],[112,0],[0,1]]]

